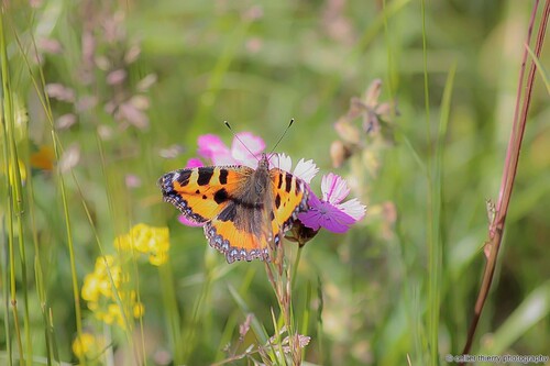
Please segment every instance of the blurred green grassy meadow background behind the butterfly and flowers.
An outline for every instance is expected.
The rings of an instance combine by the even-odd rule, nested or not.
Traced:
[[[1,363],[13,356],[8,347],[19,354],[11,280],[21,332],[30,330],[19,339],[23,350],[33,344],[28,364],[78,361],[70,346],[78,314],[67,223],[79,287],[101,254],[98,243],[103,253],[116,253],[114,239],[136,223],[170,232],[166,265],[138,260],[130,267],[145,308],[133,331],[106,331],[80,300],[85,330],[109,333],[106,348],[113,356],[109,361],[99,352],[89,364],[138,363],[132,352],[141,352],[142,336],[148,365],[221,362],[229,357],[228,344],[229,354],[242,354],[257,342],[252,335],[238,342],[249,312],[273,334],[271,311],[277,304],[264,265],[228,265],[208,247],[201,229],[177,221],[156,180],[196,156],[199,135],[218,134],[230,144],[224,120],[235,132],[262,136],[270,151],[292,118],[296,123],[277,151],[294,162],[314,158],[319,175],[342,175],[351,197],[367,206],[366,218],[349,233],[321,232],[304,248],[293,291],[300,333],[311,336],[304,359],[433,365],[446,364],[444,354],[459,354],[485,264],[486,199],[498,198],[532,2],[428,1],[424,13],[421,5],[407,0],[3,2],[11,89],[2,96],[12,98],[15,118],[11,134],[2,132],[2,197],[13,189],[9,141],[15,143],[24,185],[22,215],[8,210],[9,199],[0,212]],[[546,49],[541,64],[548,69]],[[330,146],[341,140],[334,122],[375,79],[382,80],[380,102],[397,108],[386,125],[391,138],[362,134],[360,151],[333,168]],[[42,102],[45,96],[50,107]],[[548,101],[539,77],[474,354],[550,354]],[[59,158],[53,155],[51,122]],[[430,187],[427,167],[438,156],[442,178]],[[314,190],[319,184],[317,177]],[[438,189],[441,211],[430,217],[430,196]],[[21,225],[12,218],[21,218]],[[437,271],[429,262],[432,224],[440,228]],[[12,225],[22,244],[10,264]],[[294,258],[295,247],[285,245]],[[438,284],[437,302],[429,297],[430,279]]]

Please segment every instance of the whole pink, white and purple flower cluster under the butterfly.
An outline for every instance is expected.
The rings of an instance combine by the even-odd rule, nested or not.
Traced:
[[[202,135],[198,138],[198,155],[201,158],[191,158],[187,167],[202,166],[204,160],[212,165],[245,165],[251,168],[257,166],[257,155],[265,148],[265,143],[258,136],[249,132],[239,133],[233,138],[231,147],[228,147],[220,137],[216,135]],[[245,147],[246,146],[246,147]],[[308,211],[298,214],[295,223],[294,239],[300,245],[310,240],[323,228],[334,233],[346,232],[352,224],[363,219],[365,206],[358,199],[346,202],[342,201],[350,193],[350,188],[344,179],[336,174],[328,174],[321,179],[321,197],[316,196],[309,186],[319,168],[312,160],[300,159],[294,170],[292,158],[285,154],[274,154],[270,158],[270,165],[285,171],[292,171],[296,177],[307,184],[309,190]],[[179,221],[186,225],[197,225],[184,217]],[[307,234],[305,234],[307,233]]]

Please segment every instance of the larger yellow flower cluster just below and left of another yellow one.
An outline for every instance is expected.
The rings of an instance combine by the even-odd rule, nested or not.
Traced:
[[[98,320],[125,329],[130,317],[140,318],[144,312],[135,290],[128,289],[129,281],[116,257],[99,257],[94,271],[84,279],[82,299]]]

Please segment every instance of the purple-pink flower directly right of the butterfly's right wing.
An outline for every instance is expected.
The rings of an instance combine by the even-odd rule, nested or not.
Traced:
[[[309,210],[298,214],[301,223],[312,230],[324,228],[333,233],[344,233],[365,215],[366,207],[354,198],[340,203],[350,193],[344,179],[328,174],[321,181],[322,199],[309,191]]]

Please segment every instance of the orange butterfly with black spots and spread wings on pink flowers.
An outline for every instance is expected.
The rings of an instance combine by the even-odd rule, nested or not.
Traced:
[[[272,244],[307,211],[306,182],[262,154],[257,168],[207,166],[179,169],[158,179],[163,199],[204,224],[210,246],[234,260],[271,260]]]

